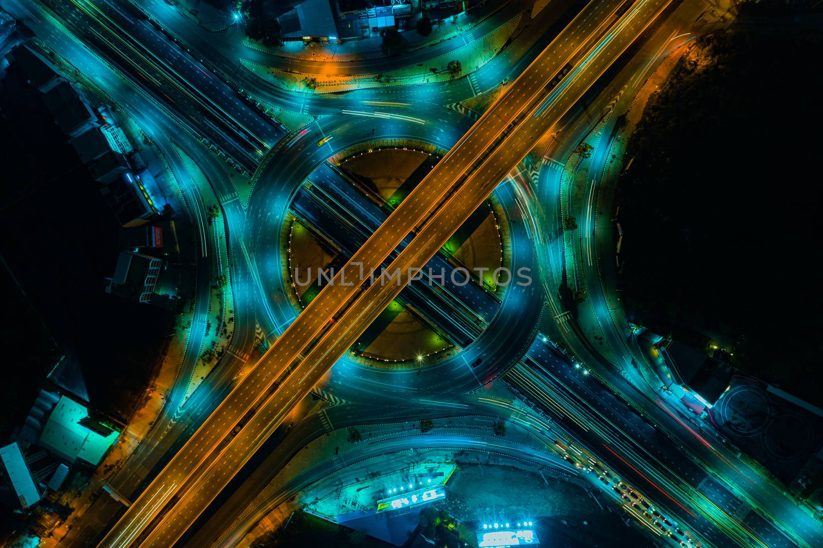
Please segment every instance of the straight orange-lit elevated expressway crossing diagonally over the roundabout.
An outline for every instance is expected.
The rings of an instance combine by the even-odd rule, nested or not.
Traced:
[[[173,545],[399,293],[408,281],[408,269],[436,253],[525,156],[532,141],[570,109],[668,4],[604,2],[588,5],[575,17],[300,314],[101,546]],[[565,78],[546,90],[546,82],[566,66],[570,68]],[[370,283],[370,270],[410,233],[411,243],[391,267],[400,270],[399,283]],[[278,380],[284,374],[286,378]]]

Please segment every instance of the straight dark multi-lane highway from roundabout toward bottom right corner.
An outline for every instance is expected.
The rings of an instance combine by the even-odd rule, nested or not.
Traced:
[[[540,339],[527,356],[506,377],[635,488],[657,495],[658,503],[681,523],[690,523],[714,546],[734,546],[735,538],[740,546],[795,546],[684,451],[688,441],[672,430],[683,429],[677,420],[673,426],[656,425],[617,397],[610,384],[584,374],[584,367],[575,368]]]

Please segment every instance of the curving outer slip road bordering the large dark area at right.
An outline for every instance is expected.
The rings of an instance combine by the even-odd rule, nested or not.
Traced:
[[[653,71],[657,63],[662,61],[664,52],[671,51],[675,46],[690,39],[690,36],[694,36],[688,33],[684,35],[681,30],[688,28],[689,22],[699,16],[701,9],[702,7],[697,5],[682,5],[657,30],[653,38],[649,39],[650,47],[647,51],[639,54],[637,59],[612,81],[612,86],[615,88],[628,86],[628,90],[625,91],[626,100],[631,100],[638,87],[643,85],[645,77]],[[606,96],[607,100],[608,98]],[[580,142],[588,130],[593,127],[593,123],[586,123],[583,118],[579,118],[576,122],[579,125],[578,128],[566,128],[566,131],[570,131],[570,134],[565,136],[569,147],[565,152],[555,152],[555,157],[567,157],[570,148]],[[588,289],[588,301],[581,306],[581,310],[591,309],[593,317],[602,327],[604,340],[616,356],[616,360],[604,358],[589,341],[585,340],[582,333],[574,326],[574,322],[572,322],[575,327],[574,332],[566,331],[565,338],[573,343],[575,350],[584,358],[585,363],[595,365],[598,373],[607,379],[612,391],[622,394],[625,401],[634,402],[635,408],[651,417],[656,425],[660,425],[672,435],[677,434],[681,443],[692,452],[692,458],[697,466],[702,467],[704,473],[720,478],[724,484],[722,489],[726,490],[727,495],[732,496],[728,493],[728,490],[731,490],[733,496],[739,501],[745,501],[745,504],[758,509],[765,516],[770,524],[761,525],[760,529],[770,531],[766,537],[767,544],[771,542],[768,535],[776,535],[780,538],[780,542],[786,542],[786,536],[788,536],[790,542],[799,543],[802,546],[816,546],[823,541],[823,538],[821,538],[821,527],[814,518],[798,508],[793,500],[783,493],[783,488],[775,485],[774,480],[763,476],[761,472],[750,467],[744,459],[738,457],[734,450],[723,443],[722,436],[714,432],[712,428],[708,426],[699,428],[693,420],[690,420],[692,417],[683,415],[679,402],[670,405],[665,395],[659,390],[659,383],[650,384],[635,366],[635,363],[644,364],[645,355],[632,336],[622,305],[616,298],[618,295],[614,286],[616,235],[613,228],[614,223],[609,214],[614,210],[611,202],[614,197],[614,188],[602,188],[607,180],[611,180],[612,183],[615,181],[613,170],[611,170],[611,141],[616,137],[616,124],[615,117],[606,118],[601,137],[599,137],[590,165],[588,165],[588,176],[586,177],[588,185],[585,195],[593,199],[584,201],[580,211],[574,211],[575,216],[582,220],[580,224],[588,225],[591,229],[581,230],[579,241],[578,260],[584,275],[582,282]],[[545,170],[546,178],[559,177],[559,174],[559,170]],[[546,183],[549,183],[548,179]],[[555,184],[548,184],[542,188],[559,188],[559,181],[553,181],[553,183]],[[555,196],[544,198],[542,202],[559,204],[560,199],[560,196]],[[533,207],[531,203],[529,209],[530,211],[541,211],[540,208]],[[553,219],[554,221],[552,217],[542,217],[540,224],[551,225],[553,222],[557,225],[559,214],[555,213]],[[559,251],[556,253],[560,254]],[[554,265],[558,263],[556,259],[552,262]],[[546,269],[548,270],[551,269]],[[554,275],[556,286],[559,286],[559,276],[560,272]],[[548,295],[554,292],[555,290],[547,290]],[[609,361],[613,363],[609,364]],[[622,371],[622,374],[616,374],[616,371]],[[695,436],[691,430],[696,430],[700,434]],[[752,515],[751,519],[762,519]]]

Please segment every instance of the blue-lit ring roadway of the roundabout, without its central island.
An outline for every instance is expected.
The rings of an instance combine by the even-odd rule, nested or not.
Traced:
[[[363,128],[356,117],[323,118],[311,124],[309,133],[293,146],[282,151],[267,163],[258,173],[259,179],[249,202],[249,253],[258,265],[260,299],[263,300],[261,321],[266,332],[281,333],[295,318],[291,300],[284,298],[288,283],[283,280],[280,267],[283,247],[281,232],[273,227],[285,222],[286,210],[292,197],[305,179],[314,177],[318,164],[329,156],[357,146],[365,139],[383,142],[386,137],[397,136],[415,142],[449,148],[458,141],[459,132],[470,128],[468,118],[453,111],[444,110],[434,122],[435,132],[428,124],[402,122],[399,120],[374,119]],[[373,127],[372,127],[373,126]],[[374,131],[374,132],[373,132]],[[315,140],[323,135],[332,135],[329,145],[318,147]],[[517,178],[519,180],[519,178]],[[523,222],[523,202],[518,198],[514,184],[500,184],[495,189],[495,197],[509,220],[509,230],[513,242],[511,268],[527,268],[537,273],[534,246],[527,225]],[[332,368],[328,388],[335,395],[353,402],[372,402],[375,397],[386,402],[402,405],[405,398],[416,397],[421,392],[471,390],[482,382],[494,378],[501,369],[517,360],[519,353],[533,337],[533,330],[541,312],[542,303],[535,298],[534,286],[510,285],[503,296],[499,312],[491,319],[490,327],[472,345],[459,355],[440,360],[434,365],[425,364],[422,374],[401,369],[375,369],[364,366],[345,356]],[[482,312],[480,310],[480,312]],[[468,365],[477,358],[481,365],[472,369]]]

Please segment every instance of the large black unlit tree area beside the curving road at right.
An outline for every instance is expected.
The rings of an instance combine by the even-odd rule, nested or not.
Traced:
[[[740,21],[701,39],[649,100],[620,199],[634,319],[729,337],[737,367],[811,402],[821,115],[800,105],[819,103],[807,75],[821,37]]]

